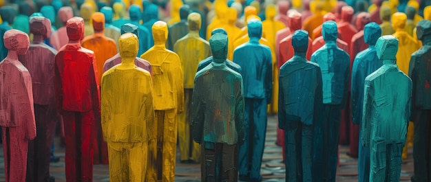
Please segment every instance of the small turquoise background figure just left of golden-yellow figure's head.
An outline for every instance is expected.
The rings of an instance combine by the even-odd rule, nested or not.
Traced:
[[[138,50],[138,55],[144,54],[144,52],[146,52],[149,48],[151,48],[150,46],[150,37],[149,37],[149,30],[147,29],[147,27],[140,25],[139,21],[140,21],[140,17],[141,17],[141,12],[140,12],[140,8],[138,5],[131,5],[129,8],[129,16],[130,16],[130,23],[132,23],[133,25],[138,26],[139,29],[139,50]],[[152,39],[151,39],[152,40]]]

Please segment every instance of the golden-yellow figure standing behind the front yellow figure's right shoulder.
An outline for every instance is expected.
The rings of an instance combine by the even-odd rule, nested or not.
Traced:
[[[183,110],[184,87],[180,58],[166,49],[167,24],[156,21],[151,27],[154,46],[140,56],[153,69],[154,126],[149,143],[146,181],[174,181],[178,113]],[[161,177],[161,179],[158,179]]]

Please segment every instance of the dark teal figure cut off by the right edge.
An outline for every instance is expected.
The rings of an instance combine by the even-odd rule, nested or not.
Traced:
[[[423,46],[412,54],[408,71],[413,82],[414,182],[431,181],[431,21],[419,21],[416,29]]]

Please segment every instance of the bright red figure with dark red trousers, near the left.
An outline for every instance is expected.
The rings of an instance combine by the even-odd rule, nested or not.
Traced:
[[[100,122],[96,58],[94,52],[81,47],[84,20],[75,16],[66,28],[69,43],[55,56],[54,78],[65,129],[66,181],[92,181],[93,127]]]

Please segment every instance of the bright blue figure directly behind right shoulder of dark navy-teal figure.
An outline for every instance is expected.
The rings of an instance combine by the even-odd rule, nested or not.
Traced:
[[[336,44],[337,23],[326,21],[322,36],[326,45],[311,56],[322,70],[322,119],[315,123],[313,179],[335,181],[338,161],[338,140],[341,110],[346,106],[350,56]]]

